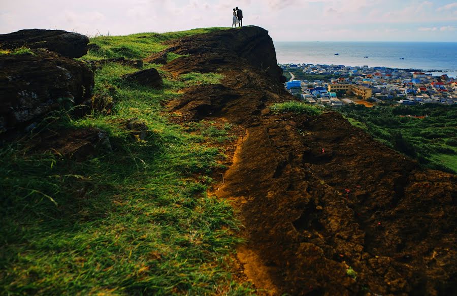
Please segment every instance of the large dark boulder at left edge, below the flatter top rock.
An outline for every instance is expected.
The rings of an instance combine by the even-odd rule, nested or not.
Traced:
[[[0,55],[0,135],[91,100],[94,79],[86,63],[45,49],[32,52]]]

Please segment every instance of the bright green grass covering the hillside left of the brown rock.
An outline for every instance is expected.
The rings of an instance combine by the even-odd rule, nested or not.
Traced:
[[[154,38],[169,40],[208,30]],[[148,42],[138,45],[137,36],[143,35],[97,37],[91,42],[104,43],[101,52],[108,55],[123,46],[118,53],[132,58],[160,48]],[[166,74],[157,65],[146,67]],[[30,153],[27,141],[0,149],[0,190],[5,196],[0,209],[3,293],[253,292],[230,273],[240,224],[230,205],[207,193],[214,182],[211,174],[222,168],[219,163],[225,157],[212,144],[234,140],[232,126],[205,121],[173,124],[162,107],[179,96],[179,89],[218,83],[222,77],[165,75],[164,88],[158,90],[120,79],[135,71],[109,63],[95,73],[95,95],[109,94],[114,102],[109,115],[93,112],[73,119],[60,112],[48,122],[53,130],[100,128],[107,133],[111,150],[100,148],[95,157],[77,161],[51,152]],[[109,91],[110,87],[116,90]],[[132,117],[146,123],[149,132],[144,140],[135,140],[123,126]]]

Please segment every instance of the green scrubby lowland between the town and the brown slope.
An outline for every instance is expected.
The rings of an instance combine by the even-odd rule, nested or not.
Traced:
[[[388,147],[428,168],[457,173],[457,106],[366,108],[351,104],[340,111]]]

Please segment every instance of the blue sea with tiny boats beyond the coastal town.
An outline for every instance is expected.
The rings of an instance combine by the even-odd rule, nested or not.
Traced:
[[[274,42],[279,63],[420,69],[457,77],[457,42]],[[338,53],[339,55],[335,55]],[[368,58],[364,58],[368,56]],[[400,59],[405,58],[405,59]],[[439,72],[430,72],[437,70]]]

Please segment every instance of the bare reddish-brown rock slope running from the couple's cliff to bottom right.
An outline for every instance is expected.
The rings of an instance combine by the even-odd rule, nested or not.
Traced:
[[[333,112],[270,114],[270,104],[293,97],[262,28],[167,45],[190,54],[167,71],[225,77],[170,102],[176,120],[223,117],[246,131],[214,194],[230,200],[245,225],[238,258],[257,288],[274,295],[455,293],[455,175],[420,169]]]

